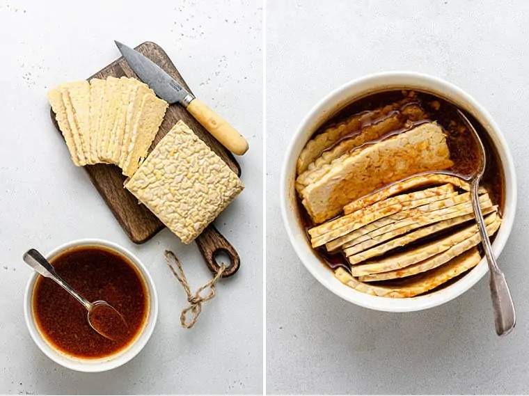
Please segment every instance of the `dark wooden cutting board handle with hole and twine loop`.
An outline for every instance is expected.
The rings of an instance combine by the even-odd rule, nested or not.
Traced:
[[[216,262],[215,256],[219,253],[225,253],[230,258],[228,268],[222,273],[223,278],[228,278],[237,272],[241,265],[241,259],[235,248],[228,242],[228,239],[215,228],[214,225],[208,225],[203,232],[195,239],[198,250],[202,253],[207,267],[216,274],[219,272],[220,264]]]

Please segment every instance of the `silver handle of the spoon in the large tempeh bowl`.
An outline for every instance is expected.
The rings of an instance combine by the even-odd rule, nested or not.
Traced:
[[[509,291],[509,286],[507,286],[505,275],[498,267],[494,253],[492,253],[491,241],[489,235],[487,235],[487,227],[483,219],[478,198],[478,184],[479,180],[473,182],[471,186],[472,206],[477,221],[477,229],[480,230],[482,246],[487,257],[487,262],[489,263],[491,298],[494,308],[496,333],[502,336],[507,335],[514,328],[516,324],[516,312],[514,311],[514,303],[512,302],[511,292]]]

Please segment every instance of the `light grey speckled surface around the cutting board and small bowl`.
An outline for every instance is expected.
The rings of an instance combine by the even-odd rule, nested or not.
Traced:
[[[260,393],[262,391],[262,9],[255,1],[0,0],[0,394]],[[113,40],[163,47],[194,93],[247,138],[244,192],[216,221],[242,258],[219,283],[198,324],[180,326],[187,305],[164,262],[171,248],[191,287],[210,272],[195,244],[167,230],[134,246],[73,166],[49,119],[46,91],[83,79],[118,57]],[[78,238],[109,239],[143,260],[159,294],[150,342],[105,374],[63,369],[40,352],[24,323],[30,247],[44,252]]]

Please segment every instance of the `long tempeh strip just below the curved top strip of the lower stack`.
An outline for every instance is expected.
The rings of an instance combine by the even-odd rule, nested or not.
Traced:
[[[384,207],[389,207],[397,203],[408,203],[409,201],[421,200],[423,198],[429,198],[432,196],[444,196],[445,194],[453,193],[453,192],[454,192],[454,187],[452,186],[452,184],[445,184],[440,187],[432,187],[431,189],[425,189],[422,191],[414,191],[413,193],[407,193],[407,194],[401,194],[400,196],[394,196],[392,198],[388,198],[386,200],[381,200],[377,203],[374,203],[373,205],[369,207],[364,207],[363,209],[357,210],[354,213],[347,214],[345,216],[340,216],[338,217],[338,219],[330,220],[330,221],[327,221],[326,223],[310,228],[310,230],[308,230],[308,234],[310,235],[310,237],[315,239],[333,230],[338,230],[338,228],[342,227],[343,225],[350,223],[354,219],[358,219],[362,216],[365,216],[365,214],[368,214],[369,212],[375,212],[379,209],[382,209]]]

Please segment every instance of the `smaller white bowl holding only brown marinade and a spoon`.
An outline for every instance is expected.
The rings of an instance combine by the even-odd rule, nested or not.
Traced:
[[[24,295],[24,316],[26,317],[26,325],[28,326],[29,333],[31,338],[35,341],[35,344],[38,345],[40,350],[44,352],[52,361],[62,365],[63,367],[69,368],[71,370],[81,371],[81,372],[103,372],[107,370],[112,370],[120,365],[124,365],[130,361],[134,356],[139,354],[141,349],[145,347],[152,331],[155,329],[156,320],[158,317],[158,296],[156,293],[155,283],[152,281],[152,278],[143,263],[136,257],[136,255],[127,251],[127,249],[113,244],[109,241],[104,241],[102,239],[79,239],[77,241],[71,241],[67,244],[58,246],[50,253],[46,255],[48,260],[52,260],[58,254],[66,251],[70,248],[77,246],[102,246],[110,250],[116,251],[125,258],[129,259],[129,262],[134,265],[143,280],[143,284],[147,288],[148,294],[148,312],[145,322],[143,323],[143,328],[136,338],[125,348],[120,350],[117,354],[111,356],[106,356],[104,358],[97,359],[84,359],[77,358],[75,356],[70,356],[65,354],[63,351],[59,351],[50,344],[45,337],[40,333],[38,325],[35,322],[35,317],[33,315],[33,292],[35,290],[35,283],[40,276],[36,272],[31,274],[31,278],[26,286],[26,294]]]

